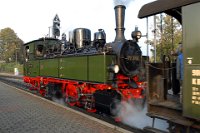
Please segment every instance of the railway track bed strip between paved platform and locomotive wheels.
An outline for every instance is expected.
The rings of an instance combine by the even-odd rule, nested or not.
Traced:
[[[29,93],[32,93],[34,95],[38,95],[38,96],[41,96],[39,93],[37,93],[37,91],[31,91],[29,90],[30,88],[30,85],[26,84],[23,82],[22,80],[22,77],[18,77],[18,76],[10,76],[10,75],[1,75],[0,74],[0,81],[1,82],[4,82],[8,85],[11,85],[11,86],[14,86],[18,89],[21,89],[21,90],[24,90],[24,91],[27,91]],[[50,99],[48,99],[50,100]],[[89,113],[87,112],[86,110],[82,109],[82,108],[79,108],[79,107],[75,107],[75,106],[68,106],[67,104],[64,104],[64,102],[60,102],[61,99],[57,99],[57,98],[53,98],[51,99],[51,101],[57,103],[57,104],[60,104],[61,106],[67,106],[68,108],[71,108],[73,110],[76,110],[76,111],[79,111],[81,113],[84,113],[85,115],[89,115],[89,116],[92,116],[94,118],[97,118],[99,120],[102,120],[102,121],[105,121],[111,125],[113,125],[114,127],[119,127],[119,128],[122,128],[122,129],[125,129],[129,132],[134,132],[134,133],[146,133],[146,131],[144,131],[143,129],[139,129],[139,128],[136,128],[136,127],[130,127],[128,125],[125,125],[121,122],[115,122],[115,120],[110,117],[110,116],[107,116],[105,114],[100,114],[100,113]]]

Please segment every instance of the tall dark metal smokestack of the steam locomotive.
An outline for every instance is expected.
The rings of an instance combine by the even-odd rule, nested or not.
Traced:
[[[116,21],[116,37],[115,42],[117,41],[125,41],[124,37],[124,19],[125,19],[125,9],[124,5],[115,6],[115,21]]]

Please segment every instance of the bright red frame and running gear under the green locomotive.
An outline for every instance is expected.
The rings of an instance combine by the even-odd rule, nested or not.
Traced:
[[[50,77],[23,77],[24,82],[31,84],[30,90],[37,90],[39,93],[44,97],[46,94],[46,90],[41,87],[41,85],[46,86],[48,83],[53,84],[61,84],[62,87],[62,94],[64,94],[67,98],[73,97],[74,99],[79,99],[79,91],[81,94],[92,95],[96,90],[105,90],[105,89],[115,89],[118,93],[122,95],[122,101],[128,101],[129,99],[143,99],[145,98],[145,94],[142,94],[142,91],[145,90],[146,84],[145,82],[140,82],[138,77],[133,77],[133,80],[138,85],[138,88],[130,88],[130,86],[123,82],[123,80],[129,79],[124,75],[118,74],[117,75],[117,85],[118,88],[113,88],[109,84],[92,84],[83,82],[79,84],[78,81],[66,80],[66,79],[57,79],[57,78],[50,78]],[[84,98],[81,97],[81,98]],[[83,106],[81,105],[80,101],[68,102],[70,106]],[[89,112],[95,112],[96,109],[88,109]]]

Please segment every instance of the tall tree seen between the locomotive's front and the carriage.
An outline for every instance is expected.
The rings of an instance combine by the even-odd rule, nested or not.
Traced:
[[[157,22],[160,22],[160,17],[157,17]],[[160,62],[163,55],[169,56],[172,60],[174,60],[174,57],[171,56],[171,51],[175,51],[178,47],[178,44],[182,42],[182,28],[180,23],[171,16],[166,15],[163,17],[162,31],[160,23],[157,23],[157,27],[157,61]],[[153,45],[155,46],[155,44]]]

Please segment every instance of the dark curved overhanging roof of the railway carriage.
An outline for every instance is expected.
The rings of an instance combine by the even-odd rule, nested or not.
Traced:
[[[144,5],[140,9],[138,17],[144,18],[164,12],[181,22],[181,7],[197,2],[200,0],[156,0]]]

